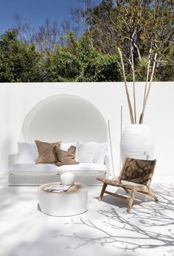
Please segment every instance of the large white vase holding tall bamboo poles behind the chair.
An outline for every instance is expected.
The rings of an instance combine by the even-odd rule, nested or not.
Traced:
[[[133,48],[132,48],[133,49]],[[133,50],[130,52],[130,64],[133,73],[133,108],[130,101],[130,95],[128,91],[128,84],[125,75],[125,66],[122,59],[122,51],[119,49],[119,56],[121,58],[122,63],[122,73],[125,81],[125,92],[128,100],[129,114],[130,114],[130,126],[126,127],[123,130],[120,141],[120,152],[122,161],[125,156],[130,158],[139,158],[146,160],[153,160],[153,152],[154,152],[154,144],[153,144],[153,135],[150,129],[145,126],[143,123],[145,108],[147,105],[147,99],[150,93],[151,84],[153,81],[153,74],[156,67],[156,56],[155,53],[153,57],[152,50],[150,49],[149,59],[147,63],[147,77],[145,82],[145,92],[142,104],[142,113],[139,118],[139,122],[137,123],[136,118],[136,88],[135,88],[135,71],[134,71],[134,62],[133,62]],[[153,61],[153,67],[150,66],[151,61]],[[151,74],[150,74],[151,70]],[[150,77],[150,81],[149,81]]]

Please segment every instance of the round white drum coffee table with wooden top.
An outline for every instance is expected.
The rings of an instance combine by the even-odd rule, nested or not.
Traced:
[[[46,187],[58,185],[47,183],[38,187],[38,203],[41,212],[52,216],[72,216],[88,210],[88,189],[82,183],[74,183],[66,192],[49,192]]]

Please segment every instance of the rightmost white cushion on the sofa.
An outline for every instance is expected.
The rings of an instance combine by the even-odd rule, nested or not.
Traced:
[[[98,164],[104,164],[106,152],[107,152],[107,143],[94,142],[93,162]]]

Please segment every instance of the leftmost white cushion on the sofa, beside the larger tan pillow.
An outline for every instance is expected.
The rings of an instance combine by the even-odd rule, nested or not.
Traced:
[[[31,163],[38,158],[38,149],[35,143],[18,142],[18,162]]]

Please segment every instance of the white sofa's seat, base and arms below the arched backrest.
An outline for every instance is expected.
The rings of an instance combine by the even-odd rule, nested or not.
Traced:
[[[96,178],[105,178],[108,169],[108,155],[101,163],[79,163],[63,166],[54,164],[35,164],[35,161],[20,160],[21,154],[10,156],[9,185],[10,186],[36,186],[43,183],[58,182],[63,172],[72,172],[75,181],[88,186],[100,184]]]

